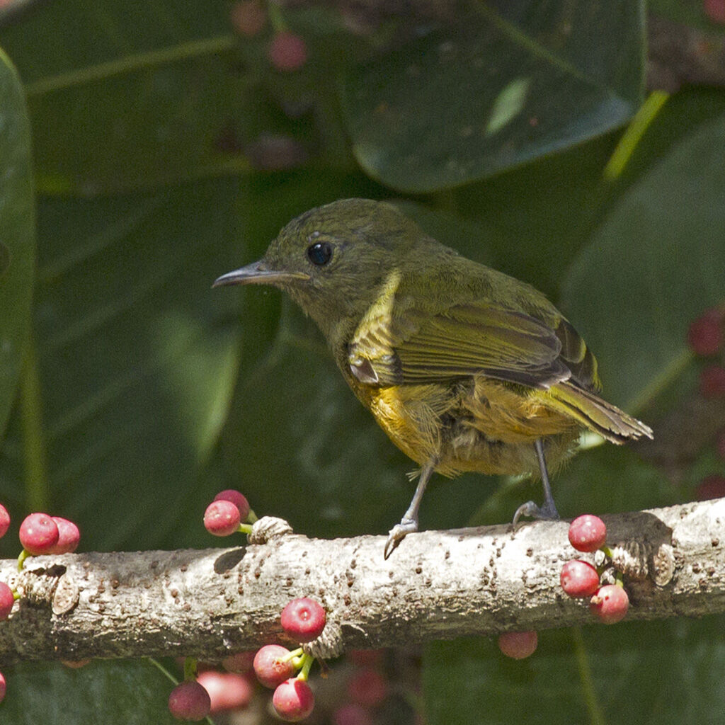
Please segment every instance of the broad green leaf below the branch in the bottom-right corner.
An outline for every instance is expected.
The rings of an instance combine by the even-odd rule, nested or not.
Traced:
[[[423,660],[426,716],[431,725],[715,723],[725,709],[724,624],[624,622],[586,627],[581,639],[543,631],[526,660],[486,640],[435,642]]]

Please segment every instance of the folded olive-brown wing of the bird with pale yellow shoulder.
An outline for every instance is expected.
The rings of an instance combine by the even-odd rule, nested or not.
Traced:
[[[597,384],[596,361],[574,328],[488,303],[431,315],[415,309],[368,317],[349,345],[353,375],[371,385],[426,384],[484,375],[532,388],[573,378]]]

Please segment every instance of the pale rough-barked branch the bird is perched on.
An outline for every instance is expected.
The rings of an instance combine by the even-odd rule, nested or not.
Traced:
[[[628,618],[725,611],[725,499],[603,516],[626,572]],[[385,537],[308,539],[263,518],[246,546],[36,557],[0,579],[19,589],[0,622],[0,666],[20,660],[196,655],[286,642],[279,613],[310,596],[328,611],[312,652],[546,629],[592,621],[559,586],[575,552],[565,521]],[[618,545],[621,544],[621,545]]]

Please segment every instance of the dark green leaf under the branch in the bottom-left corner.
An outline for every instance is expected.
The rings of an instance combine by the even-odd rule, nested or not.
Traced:
[[[173,682],[145,660],[94,661],[80,669],[26,663],[4,673],[0,718],[45,725],[172,725]]]

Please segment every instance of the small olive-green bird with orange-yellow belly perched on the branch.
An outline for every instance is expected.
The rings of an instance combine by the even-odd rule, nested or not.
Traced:
[[[597,361],[533,287],[427,236],[384,202],[342,199],[292,220],[259,262],[214,285],[270,284],[315,320],[342,376],[402,452],[421,465],[385,557],[418,530],[434,471],[539,473],[573,453],[582,428],[613,443],[652,431],[600,398]]]

